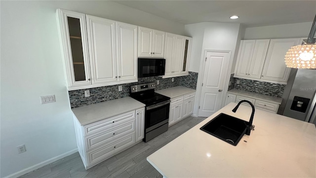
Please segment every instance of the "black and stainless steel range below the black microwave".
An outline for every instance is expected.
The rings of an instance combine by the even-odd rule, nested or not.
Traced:
[[[170,98],[156,93],[155,88],[155,83],[130,87],[130,96],[146,105],[145,142],[168,130]]]

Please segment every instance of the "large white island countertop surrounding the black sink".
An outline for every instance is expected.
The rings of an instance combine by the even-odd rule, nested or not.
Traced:
[[[233,146],[200,128],[220,113],[249,121],[251,107],[230,103],[166,144],[147,160],[165,178],[316,177],[314,124],[255,111],[255,130]],[[246,142],[245,142],[245,141]]]

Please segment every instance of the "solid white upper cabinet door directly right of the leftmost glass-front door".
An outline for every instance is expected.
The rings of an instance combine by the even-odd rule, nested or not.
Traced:
[[[116,82],[116,22],[86,15],[92,85]]]

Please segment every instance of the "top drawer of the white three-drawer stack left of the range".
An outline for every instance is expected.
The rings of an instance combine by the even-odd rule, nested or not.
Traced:
[[[84,136],[93,134],[102,130],[112,129],[114,125],[117,125],[122,122],[126,122],[128,119],[135,119],[135,110],[120,114],[109,119],[104,119],[83,127]]]

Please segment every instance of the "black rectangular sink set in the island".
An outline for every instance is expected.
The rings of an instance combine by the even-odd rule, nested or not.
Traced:
[[[236,146],[243,134],[246,133],[248,124],[247,121],[221,113],[201,127],[200,130]]]

